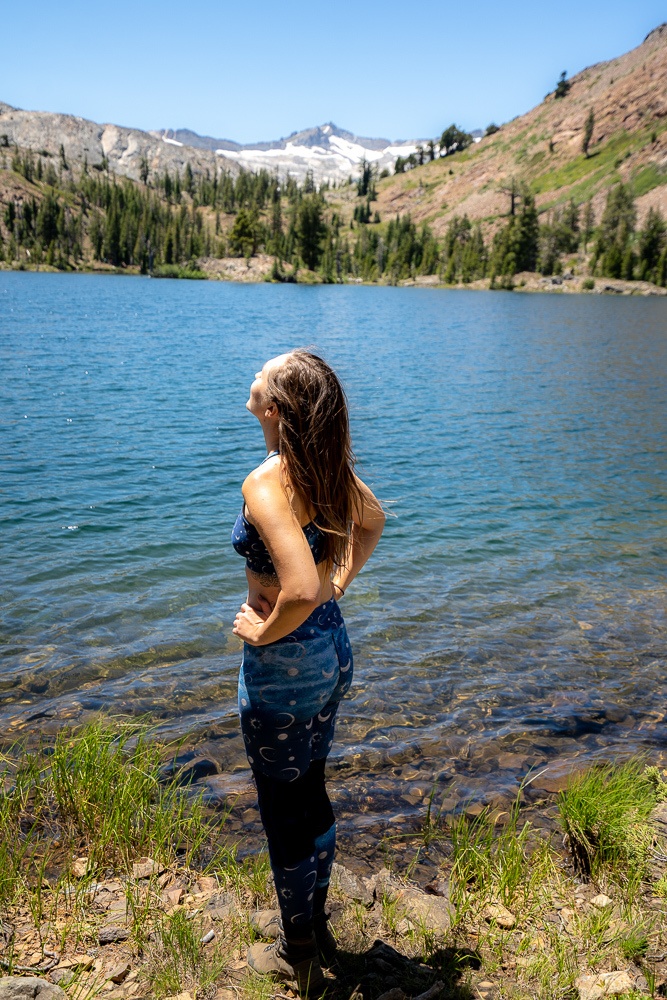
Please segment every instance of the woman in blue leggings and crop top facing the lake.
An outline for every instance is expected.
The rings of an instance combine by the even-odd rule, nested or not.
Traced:
[[[384,514],[353,472],[347,403],[335,372],[309,351],[273,358],[246,404],[267,457],[243,484],[232,544],[246,558],[248,600],[239,713],[257,783],[279,914],[256,915],[271,945],[253,945],[257,972],[314,995],[335,940],[325,902],[336,825],[324,781],[352,651],[337,599],[377,545]]]

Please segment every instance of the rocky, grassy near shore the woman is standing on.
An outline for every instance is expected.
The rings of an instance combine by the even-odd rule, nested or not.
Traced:
[[[196,758],[169,750],[97,723],[3,755],[0,1000],[295,995],[245,963],[253,912],[276,905],[265,851],[228,829],[235,797],[205,808]],[[519,788],[502,814],[429,801],[400,852],[381,838],[382,866],[343,838],[327,995],[664,995],[666,800],[663,774],[630,761],[547,793],[557,828]]]

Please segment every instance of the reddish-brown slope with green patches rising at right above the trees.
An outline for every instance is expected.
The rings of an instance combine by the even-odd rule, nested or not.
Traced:
[[[467,213],[493,228],[506,215],[506,189],[530,184],[542,209],[592,198],[599,219],[609,185],[632,185],[640,219],[654,205],[667,214],[667,24],[617,59],[571,78],[564,98],[549,94],[525,115],[463,153],[383,181],[379,209],[410,212],[442,234]],[[588,156],[582,138],[595,124]]]

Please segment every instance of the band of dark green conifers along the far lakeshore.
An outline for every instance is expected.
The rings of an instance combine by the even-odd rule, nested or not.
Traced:
[[[491,127],[491,126],[490,126]],[[468,137],[469,138],[469,137]],[[465,133],[450,126],[441,155],[465,147]],[[442,153],[445,150],[445,153]],[[184,268],[201,257],[274,257],[274,280],[294,280],[299,268],[323,281],[395,283],[437,274],[447,283],[491,278],[510,287],[520,271],[559,274],[568,255],[588,255],[591,274],[667,284],[667,226],[649,210],[637,226],[632,192],[610,188],[596,223],[591,202],[570,201],[538,215],[528,189],[512,183],[508,217],[485,239],[479,223],[455,216],[437,239],[409,215],[385,221],[374,208],[378,178],[362,164],[352,219],[346,221],[308,176],[302,184],[266,170],[181,176],[168,171],[141,182],[118,178],[102,163],[75,173],[59,157],[13,154],[11,167],[36,185],[35,194],[3,206],[0,258],[20,263],[80,267],[90,260],[142,273]]]

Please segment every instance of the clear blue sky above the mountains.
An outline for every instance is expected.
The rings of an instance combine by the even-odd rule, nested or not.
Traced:
[[[0,100],[239,142],[325,121],[426,138],[527,111],[665,18],[664,0],[8,0]]]

